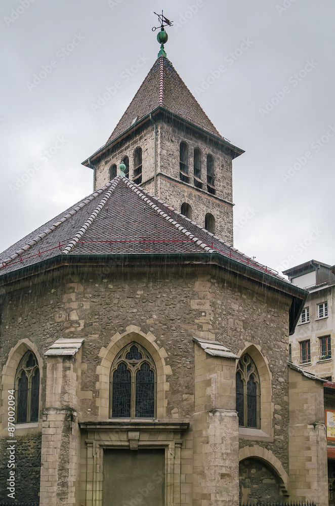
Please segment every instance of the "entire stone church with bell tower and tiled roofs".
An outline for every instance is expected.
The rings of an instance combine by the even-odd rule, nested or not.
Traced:
[[[328,504],[306,290],[233,247],[232,161],[166,57],[83,164],[94,192],[0,256],[0,501]],[[12,465],[14,464],[14,465]]]

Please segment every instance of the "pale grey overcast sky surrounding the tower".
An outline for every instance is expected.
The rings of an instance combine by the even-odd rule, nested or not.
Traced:
[[[91,193],[81,162],[154,63],[162,8],[175,22],[168,58],[245,150],[233,162],[234,245],[279,271],[335,264],[333,0],[2,0],[0,251]]]

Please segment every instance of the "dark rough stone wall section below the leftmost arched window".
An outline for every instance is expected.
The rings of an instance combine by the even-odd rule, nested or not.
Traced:
[[[15,473],[15,499],[16,501],[38,502],[39,500],[39,475],[41,458],[41,435],[16,436],[15,457],[17,468]],[[7,497],[7,479],[9,469],[7,467],[8,444],[2,440],[0,445],[0,501],[13,501]]]

